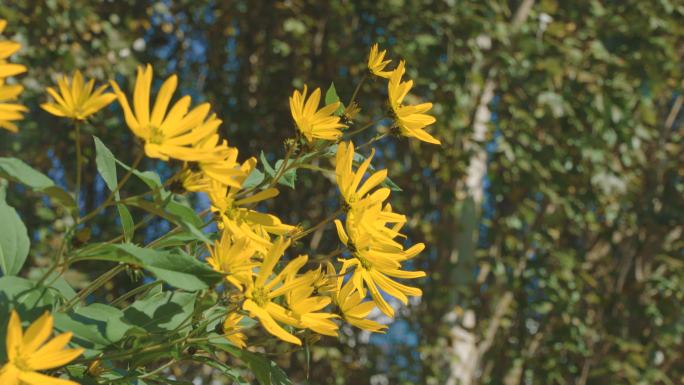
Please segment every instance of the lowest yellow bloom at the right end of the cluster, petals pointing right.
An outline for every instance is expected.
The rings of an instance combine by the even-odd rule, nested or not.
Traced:
[[[354,288],[351,280],[345,284],[345,273],[345,270],[340,271],[337,278],[337,290],[333,297],[333,301],[340,309],[342,317],[350,325],[356,326],[359,329],[368,330],[373,333],[384,333],[387,326],[366,319],[373,308],[375,308],[375,303],[373,301],[364,301],[364,296]]]

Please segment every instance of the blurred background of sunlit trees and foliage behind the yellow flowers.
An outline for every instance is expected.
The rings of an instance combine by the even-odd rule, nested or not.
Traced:
[[[19,134],[2,134],[0,155],[64,184],[74,169],[70,127],[38,108],[62,73],[127,84],[139,63],[178,73],[183,92],[212,103],[241,159],[262,149],[274,159],[293,133],[294,87],[334,81],[346,102],[371,43],[406,59],[413,94],[435,103],[432,132],[443,145],[385,139],[377,166],[404,190],[392,204],[411,218],[412,240],[429,245],[416,263],[429,274],[424,296],[386,335],[344,329],[310,357],[271,347],[296,383],[684,382],[681,0],[13,0],[0,17],[24,46],[17,61],[30,70],[19,81],[32,111]],[[364,88],[367,118],[386,108],[382,95],[380,84]],[[133,158],[118,107],[86,130]],[[84,209],[106,196],[89,140]],[[300,173],[297,184],[282,189],[283,219],[309,223],[334,210],[328,181]],[[67,216],[35,197],[8,199],[34,237],[47,237],[31,254],[45,264]],[[102,216],[90,236],[118,234],[115,217]],[[315,254],[334,237],[299,247]]]

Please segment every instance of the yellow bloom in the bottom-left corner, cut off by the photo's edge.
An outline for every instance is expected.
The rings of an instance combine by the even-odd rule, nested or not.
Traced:
[[[71,340],[66,332],[45,343],[52,334],[52,315],[45,312],[24,334],[21,320],[12,311],[7,325],[7,362],[0,369],[2,385],[78,385],[38,373],[39,370],[64,366],[83,353],[83,349],[65,349]]]

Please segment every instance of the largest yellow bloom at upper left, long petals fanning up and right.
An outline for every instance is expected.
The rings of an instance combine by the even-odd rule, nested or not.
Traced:
[[[169,158],[188,162],[220,161],[224,148],[217,147],[207,151],[197,144],[214,135],[221,120],[209,115],[211,106],[202,103],[190,109],[191,99],[183,96],[170,110],[169,103],[176,91],[178,77],[170,76],[159,89],[150,114],[150,89],[152,86],[152,66],[138,67],[138,75],[133,91],[133,109],[119,85],[110,81],[112,89],[124,111],[126,124],[133,133],[145,141],[145,153],[151,158]]]

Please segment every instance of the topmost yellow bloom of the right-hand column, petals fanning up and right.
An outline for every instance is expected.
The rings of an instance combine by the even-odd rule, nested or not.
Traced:
[[[335,178],[344,199],[345,208],[356,209],[361,204],[374,204],[382,202],[389,197],[390,189],[383,187],[375,190],[367,199],[364,199],[366,194],[387,178],[387,170],[380,170],[371,174],[361,184],[361,180],[365,176],[374,154],[375,150],[372,150],[371,155],[354,172],[352,169],[354,164],[354,143],[341,142],[338,145],[335,158]]]

